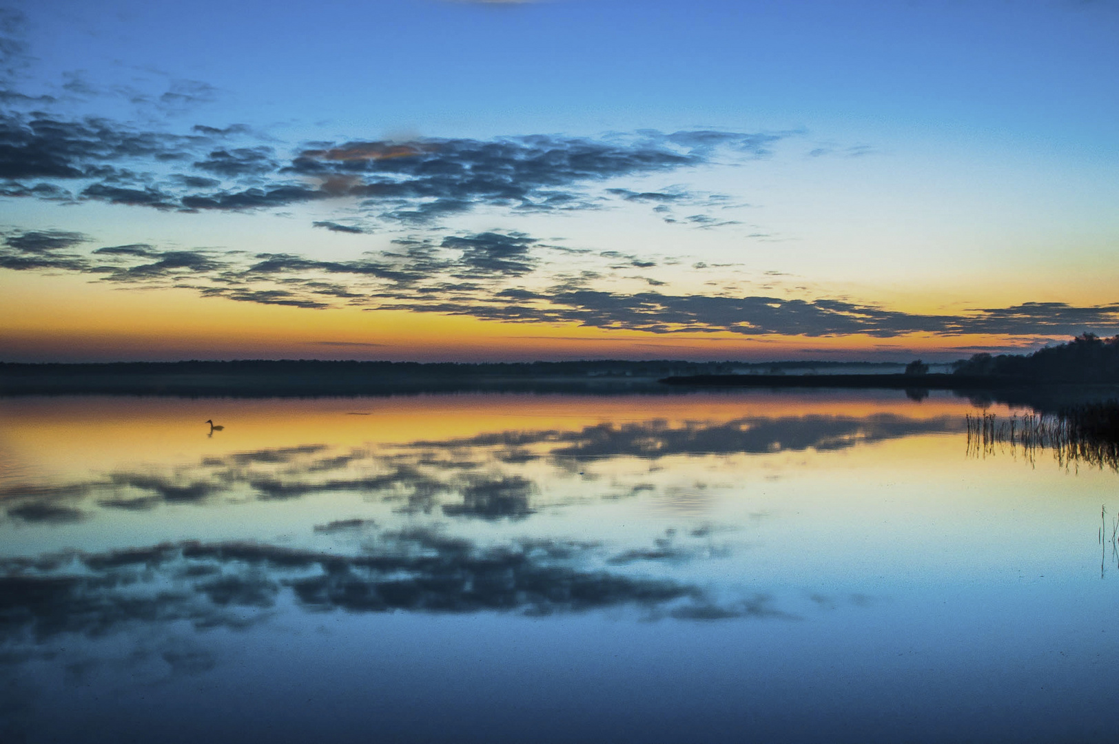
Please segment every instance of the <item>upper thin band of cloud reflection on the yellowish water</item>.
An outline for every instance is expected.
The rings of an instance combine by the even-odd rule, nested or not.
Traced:
[[[358,492],[397,503],[404,514],[455,519],[518,520],[552,481],[577,474],[593,481],[591,462],[636,459],[650,463],[646,479],[619,482],[603,497],[660,489],[668,507],[702,510],[714,483],[656,486],[652,463],[670,456],[826,452],[904,436],[955,432],[951,416],[909,418],[878,413],[855,416],[739,417],[669,425],[664,421],[595,424],[577,430],[488,432],[445,441],[416,441],[374,451],[335,451],[327,444],[271,448],[207,456],[163,471],[112,472],[82,482],[0,488],[9,518],[41,525],[70,524],[91,507],[143,511],[160,505],[213,503],[220,499],[280,501],[312,495]],[[695,502],[695,503],[693,503]]]

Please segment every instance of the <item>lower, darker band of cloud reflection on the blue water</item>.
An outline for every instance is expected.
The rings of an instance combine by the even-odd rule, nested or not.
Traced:
[[[426,528],[379,530],[363,520],[316,528],[359,533],[351,554],[250,541],[181,541],[0,562],[0,641],[105,635],[137,623],[248,628],[281,594],[310,611],[526,615],[633,608],[649,618],[777,616],[762,597],[721,601],[694,583],[626,571],[711,557],[692,536],[611,553],[587,541],[520,539],[481,546]]]

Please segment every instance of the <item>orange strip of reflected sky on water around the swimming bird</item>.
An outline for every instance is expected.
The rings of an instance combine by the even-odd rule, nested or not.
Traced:
[[[0,446],[51,471],[195,461],[215,453],[323,443],[360,448],[505,431],[572,431],[604,422],[722,423],[749,416],[909,418],[962,416],[962,398],[921,403],[875,396],[718,394],[666,396],[425,395],[356,398],[17,397],[0,399]],[[365,415],[355,415],[365,414]],[[225,430],[208,437],[213,418]]]

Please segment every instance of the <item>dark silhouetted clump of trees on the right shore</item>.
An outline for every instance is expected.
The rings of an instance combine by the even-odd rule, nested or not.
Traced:
[[[1066,383],[1119,383],[1119,336],[1083,333],[1033,354],[977,354],[957,361],[957,375],[999,375]]]

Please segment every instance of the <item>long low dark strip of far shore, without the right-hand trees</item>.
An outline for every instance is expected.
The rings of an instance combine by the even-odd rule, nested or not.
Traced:
[[[784,365],[782,368],[781,365]],[[836,365],[838,366],[838,365]],[[885,365],[849,364],[856,368]],[[730,368],[749,374],[723,374]],[[761,374],[810,362],[735,365],[688,361],[561,361],[420,364],[388,361],[246,360],[106,364],[0,362],[0,396],[139,395],[178,397],[331,397],[431,393],[561,393],[671,395],[704,389],[904,390],[920,399],[951,390],[977,402],[1056,405],[1119,397],[1119,386],[1045,382],[1006,375]],[[896,366],[894,366],[896,368]],[[753,371],[759,370],[759,371]]]

